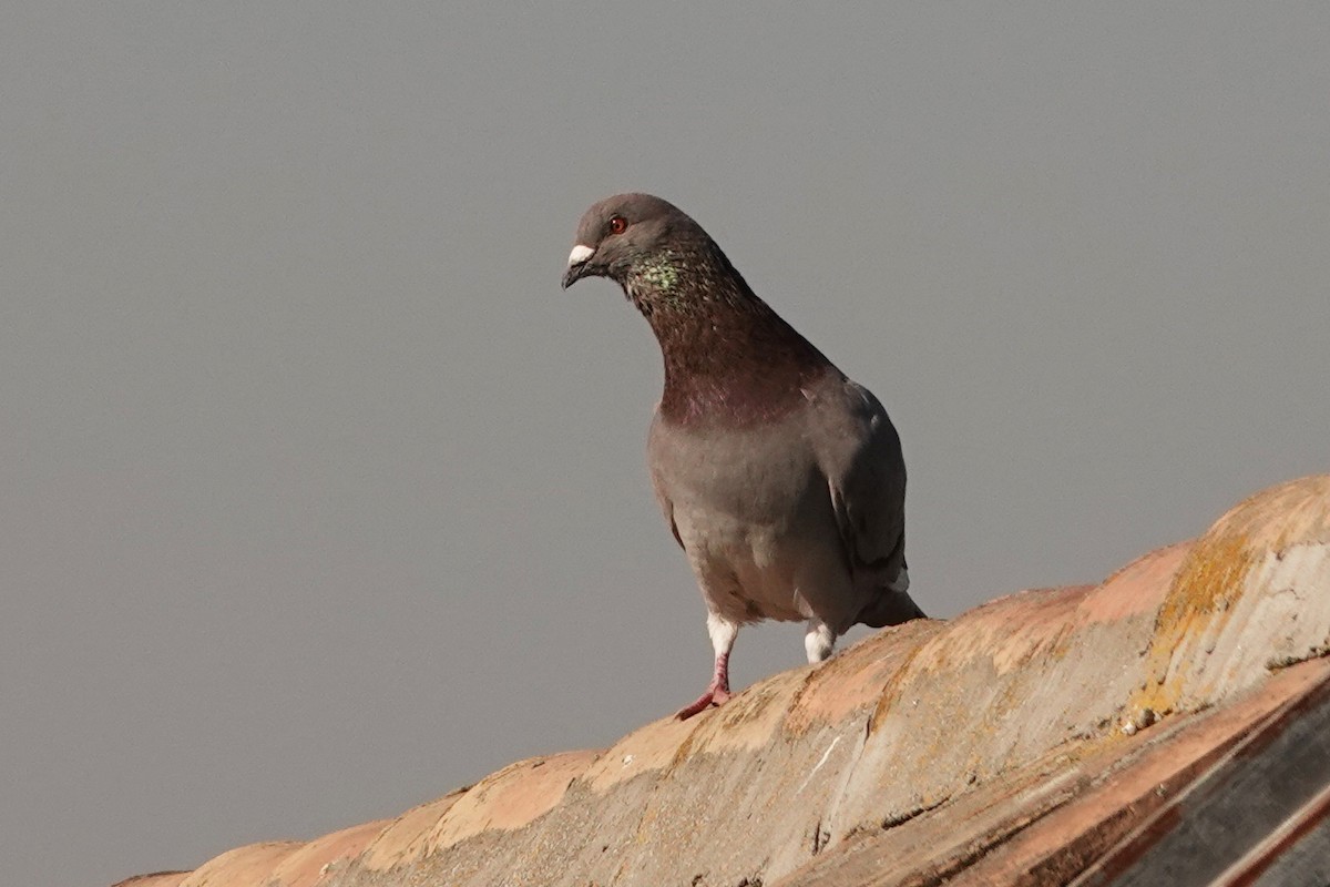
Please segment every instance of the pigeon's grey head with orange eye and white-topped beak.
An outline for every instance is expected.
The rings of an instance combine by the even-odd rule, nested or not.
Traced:
[[[577,225],[564,289],[605,277],[634,290],[676,289],[689,266],[718,253],[706,231],[673,203],[650,194],[616,194],[593,205]]]

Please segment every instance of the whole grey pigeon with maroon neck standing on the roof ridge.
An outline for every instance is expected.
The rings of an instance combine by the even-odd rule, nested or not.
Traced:
[[[716,653],[712,682],[676,717],[730,698],[741,625],[806,622],[818,664],[857,622],[923,617],[907,592],[900,438],[878,399],[658,197],[618,194],[587,210],[563,287],[585,277],[622,287],[665,360],[648,465]]]

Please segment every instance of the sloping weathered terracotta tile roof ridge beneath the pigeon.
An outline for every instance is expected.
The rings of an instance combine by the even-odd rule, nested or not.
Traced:
[[[517,762],[390,823],[129,883],[1138,883],[1142,859],[1186,851],[1176,823],[1233,827],[1246,814],[1221,803],[1228,787],[1256,766],[1278,775],[1279,743],[1322,710],[1330,723],[1327,649],[1330,476],[1318,476],[1097,586],[887,629],[692,721]],[[1250,846],[1232,840],[1214,864],[1309,871],[1306,835],[1330,834],[1330,789],[1317,801],[1330,765],[1323,785],[1309,779],[1266,781]]]

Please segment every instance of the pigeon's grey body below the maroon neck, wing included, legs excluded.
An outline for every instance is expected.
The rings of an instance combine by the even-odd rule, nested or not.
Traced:
[[[805,407],[757,428],[690,428],[658,412],[656,496],[708,608],[737,624],[920,616],[903,592],[904,463],[876,398],[829,371]]]

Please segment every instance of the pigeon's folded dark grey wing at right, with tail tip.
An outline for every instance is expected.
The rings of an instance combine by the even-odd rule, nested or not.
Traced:
[[[814,445],[857,585],[874,589],[859,621],[894,625],[923,616],[906,594],[906,464],[887,411],[849,379],[818,398]]]

